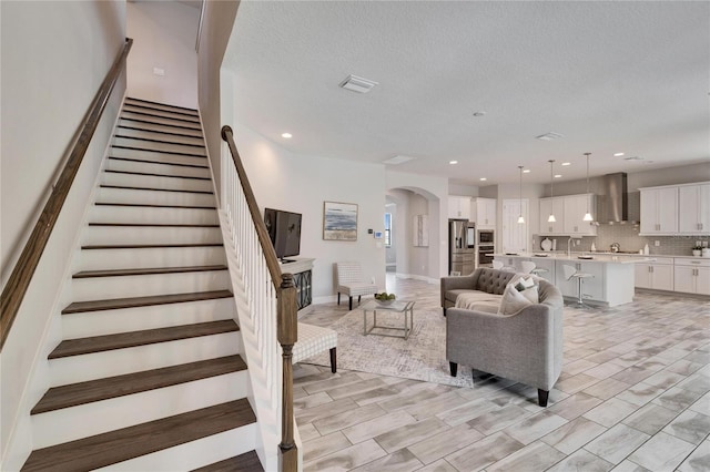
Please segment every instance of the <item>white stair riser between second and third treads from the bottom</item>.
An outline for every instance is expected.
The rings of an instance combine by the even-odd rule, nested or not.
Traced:
[[[32,415],[34,449],[245,398],[245,370]]]

